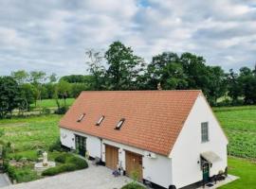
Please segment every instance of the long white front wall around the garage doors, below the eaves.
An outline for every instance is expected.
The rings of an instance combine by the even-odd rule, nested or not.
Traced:
[[[105,162],[105,144],[119,147],[119,163],[121,163],[125,170],[125,150],[132,151],[142,155],[143,179],[153,181],[166,188],[172,184],[172,160],[170,158],[158,154],[156,154],[155,159],[144,157],[145,150],[132,146],[125,146],[105,139],[101,141],[98,137],[63,128],[61,128],[62,144],[70,148],[75,148],[75,134],[79,134],[87,138],[86,149],[91,157],[101,157],[102,154],[101,161]]]

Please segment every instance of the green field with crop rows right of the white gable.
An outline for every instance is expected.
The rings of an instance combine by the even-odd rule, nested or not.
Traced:
[[[256,106],[213,110],[229,137],[229,155],[256,159]]]

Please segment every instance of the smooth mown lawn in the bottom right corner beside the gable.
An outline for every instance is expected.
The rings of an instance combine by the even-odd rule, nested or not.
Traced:
[[[229,174],[240,177],[220,189],[256,189],[256,163],[229,158]]]

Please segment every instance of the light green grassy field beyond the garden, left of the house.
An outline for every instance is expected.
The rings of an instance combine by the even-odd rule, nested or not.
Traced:
[[[14,152],[46,149],[59,138],[60,118],[51,114],[0,120],[0,129],[5,133],[1,140],[12,144]]]

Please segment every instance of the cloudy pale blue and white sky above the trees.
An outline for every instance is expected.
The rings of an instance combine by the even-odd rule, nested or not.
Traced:
[[[85,51],[120,41],[150,62],[191,52],[226,71],[256,62],[255,0],[0,0],[0,75],[87,74]]]

